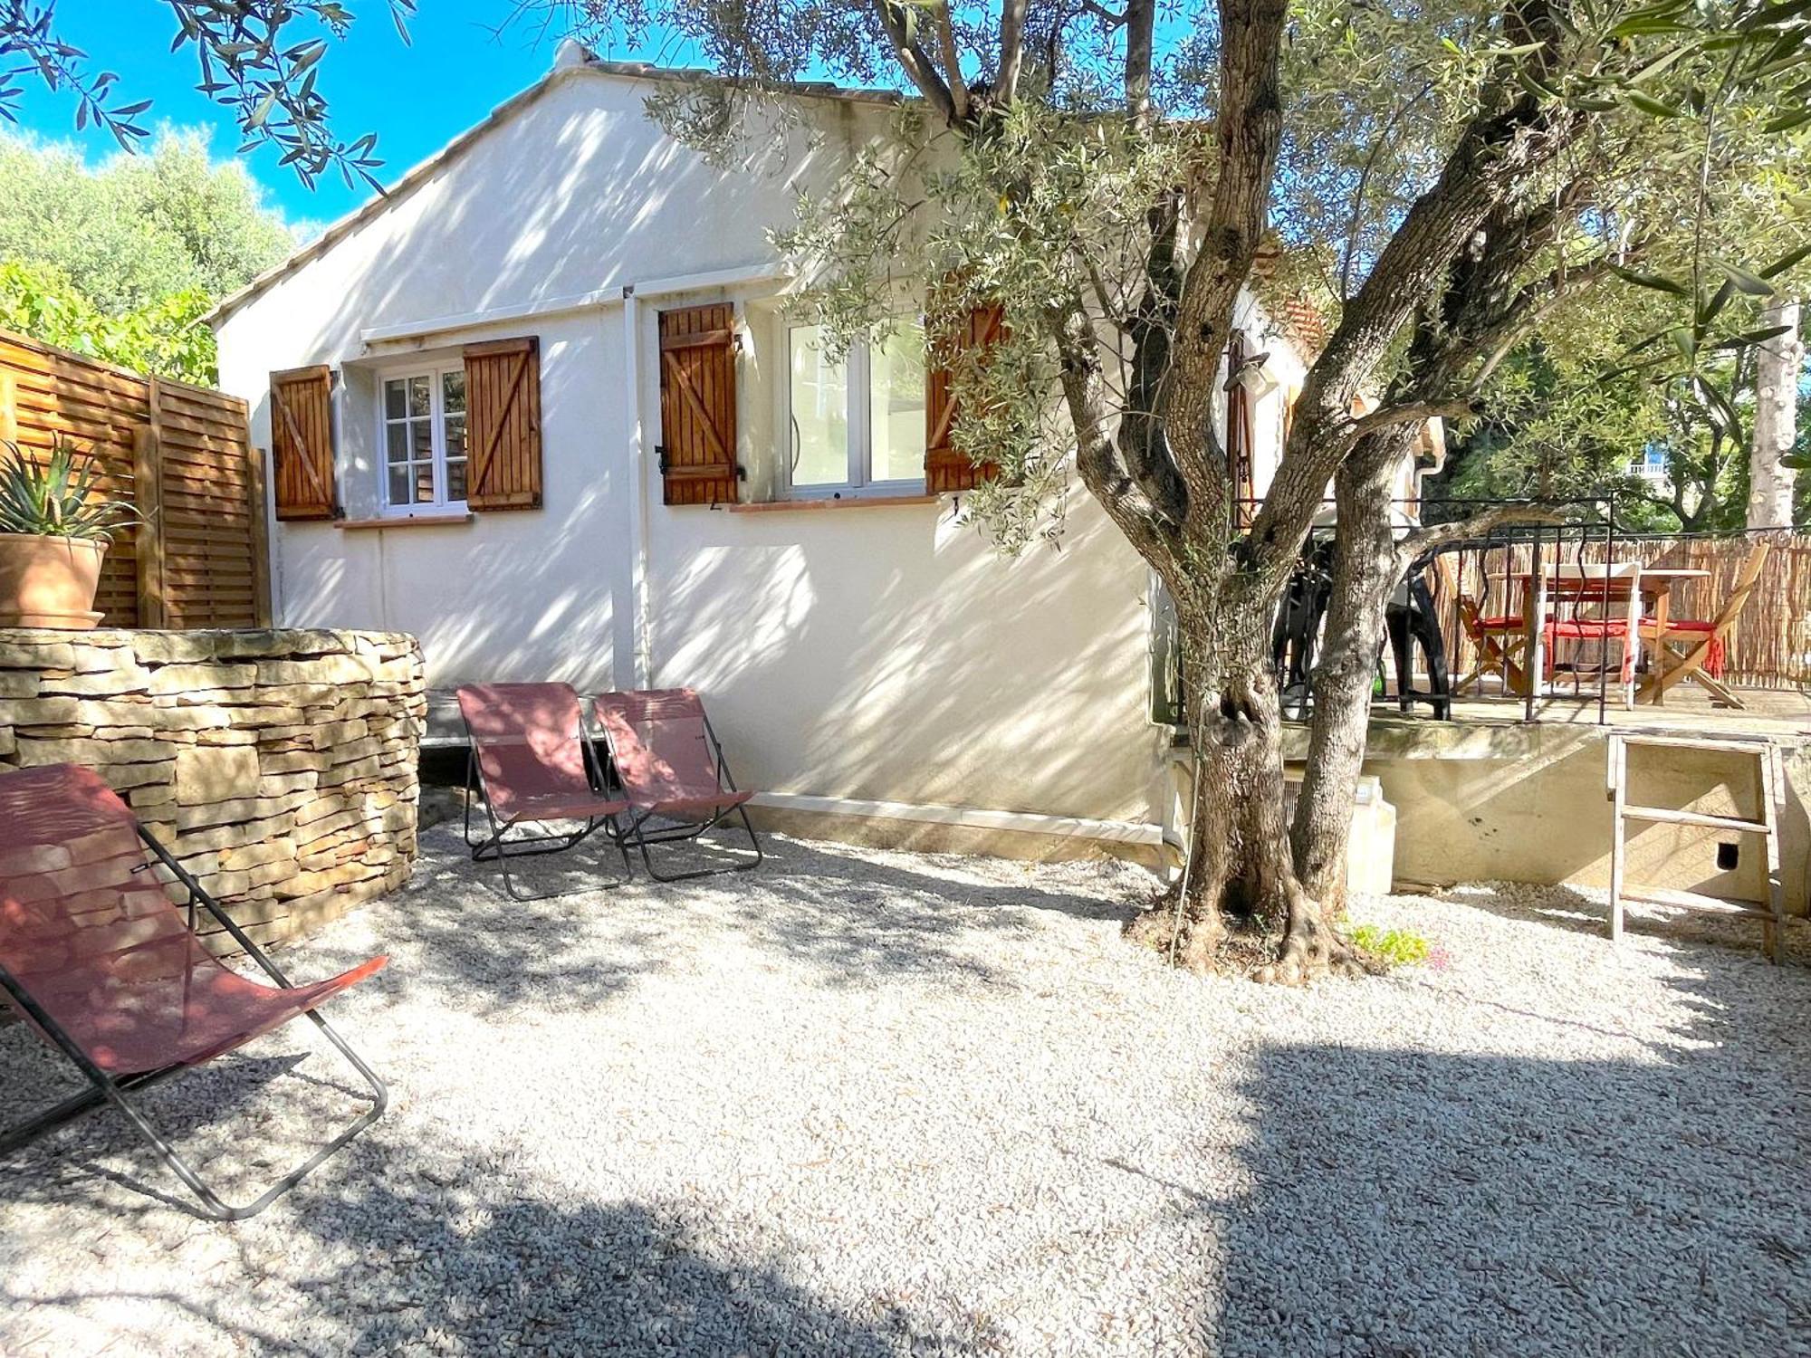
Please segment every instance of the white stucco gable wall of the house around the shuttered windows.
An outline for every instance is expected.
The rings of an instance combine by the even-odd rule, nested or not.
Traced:
[[[733,301],[753,320],[739,359],[739,451],[762,483],[781,447],[768,377],[781,368],[779,328],[762,320],[779,284],[648,288],[771,272],[764,230],[790,223],[799,188],[819,185],[838,145],[884,114],[813,103],[826,134],[817,148],[795,132],[721,170],[647,120],[650,89],[589,71],[556,80],[225,319],[221,384],[252,404],[263,447],[270,371],[326,362],[342,373],[350,518],[377,509],[378,364],[511,335],[541,346],[545,507],[444,527],[277,523],[279,619],[415,632],[435,688],[630,686],[641,494],[645,681],[704,692],[746,786],[1161,820],[1166,733],[1148,722],[1146,572],[1079,489],[1061,550],[1018,559],[962,523],[949,496],[753,514],[661,505],[657,310]],[[583,293],[596,297],[558,315],[447,320]],[[369,331],[407,333],[368,342]]]

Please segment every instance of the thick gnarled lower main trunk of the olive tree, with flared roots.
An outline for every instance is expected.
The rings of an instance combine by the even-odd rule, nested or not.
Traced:
[[[1179,608],[1195,777],[1183,876],[1126,932],[1193,971],[1228,963],[1228,940],[1280,943],[1260,980],[1300,983],[1351,954],[1302,891],[1282,802],[1282,713],[1270,659],[1270,608],[1242,579],[1210,610]],[[1257,956],[1251,952],[1251,956]]]

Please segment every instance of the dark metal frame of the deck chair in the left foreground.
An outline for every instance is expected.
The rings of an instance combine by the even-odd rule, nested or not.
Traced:
[[[158,844],[158,840],[150,837],[150,833],[143,826],[138,826],[138,835],[141,840],[145,840],[147,847],[158,856],[158,862],[168,867],[176,875],[176,880],[188,891],[190,932],[196,929],[197,907],[206,907],[208,914],[219,920],[221,927],[226,929],[228,934],[232,934],[232,940],[239,947],[243,947],[246,956],[252,958],[259,967],[263,967],[264,972],[277,985],[281,985],[286,990],[295,989],[290,983],[290,978],[283,974],[283,969],[277,967],[277,963],[273,963],[264,954],[264,951],[252,942],[252,938],[244,932],[244,929],[241,929],[232,920],[232,916],[221,909],[219,902],[214,900],[214,896],[210,896],[201,887],[201,884],[196,882],[196,878],[190,876],[183,869],[183,865],[176,862],[176,858],[172,858],[170,853],[161,844]],[[150,871],[150,864],[145,864],[143,871]],[[371,1123],[382,1117],[384,1110],[389,1106],[389,1090],[384,1085],[384,1081],[378,1079],[377,1072],[371,1070],[371,1066],[368,1066],[359,1057],[359,1054],[351,1050],[346,1039],[340,1038],[339,1032],[335,1032],[333,1027],[324,1018],[321,1018],[317,1010],[313,1009],[304,1010],[304,1014],[313,1021],[313,1025],[321,1030],[321,1034],[330,1043],[333,1043],[335,1050],[339,1050],[339,1054],[346,1057],[351,1068],[364,1077],[366,1085],[369,1085],[371,1108],[364,1112],[351,1126],[348,1126],[337,1137],[321,1146],[302,1164],[299,1164],[295,1170],[290,1170],[290,1173],[286,1173],[275,1184],[266,1188],[257,1199],[246,1202],[244,1206],[235,1208],[225,1202],[212,1188],[208,1188],[206,1181],[194,1170],[194,1166],[188,1164],[188,1161],[177,1155],[176,1148],[170,1146],[170,1143],[165,1141],[163,1135],[159,1135],[158,1128],[150,1124],[150,1121],[145,1117],[145,1114],[138,1108],[138,1105],[130,1097],[138,1090],[149,1088],[150,1085],[158,1085],[168,1079],[170,1076],[177,1076],[183,1070],[190,1070],[192,1066],[172,1065],[172,1066],[161,1066],[159,1070],[147,1070],[130,1076],[112,1076],[101,1070],[89,1057],[89,1054],[83,1052],[81,1047],[78,1047],[76,1041],[62,1028],[62,1025],[58,1025],[58,1021],[51,1018],[43,1010],[43,1007],[25,990],[25,987],[22,987],[18,980],[4,967],[0,967],[0,987],[4,987],[5,992],[13,998],[13,1001],[25,1014],[31,1016],[33,1023],[36,1023],[51,1038],[51,1041],[56,1043],[58,1050],[62,1050],[63,1056],[67,1056],[76,1065],[76,1068],[81,1070],[83,1076],[87,1076],[89,1085],[92,1086],[83,1094],[65,1099],[63,1103],[47,1108],[45,1112],[0,1132],[0,1155],[13,1152],[31,1141],[36,1141],[38,1137],[45,1135],[47,1132],[53,1132],[54,1128],[72,1123],[83,1114],[100,1108],[101,1105],[112,1105],[114,1108],[120,1110],[120,1114],[127,1119],[127,1123],[130,1123],[132,1128],[145,1141],[150,1143],[152,1150],[158,1152],[159,1159],[163,1159],[163,1162],[176,1173],[176,1177],[181,1179],[183,1184],[187,1184],[188,1190],[199,1199],[201,1202],[199,1215],[212,1217],[214,1220],[244,1220],[246,1217],[255,1217],[259,1211],[263,1211],[279,1197],[295,1188],[302,1179],[313,1173],[330,1155],[340,1150],[340,1146],[350,1143],[353,1137],[357,1137],[360,1132],[371,1126]]]

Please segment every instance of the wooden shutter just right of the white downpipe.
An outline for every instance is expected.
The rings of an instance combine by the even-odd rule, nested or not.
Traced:
[[[661,311],[661,485],[668,505],[735,500],[735,308]]]

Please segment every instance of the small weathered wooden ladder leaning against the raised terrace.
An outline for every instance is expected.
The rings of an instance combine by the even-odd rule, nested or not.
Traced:
[[[1643,806],[1628,800],[1628,748],[1661,750],[1710,750],[1717,753],[1740,753],[1755,759],[1757,786],[1760,789],[1760,818],[1710,815],[1706,811],[1686,811],[1666,806]],[[1726,735],[1693,737],[1657,732],[1610,732],[1610,800],[1614,813],[1614,842],[1610,846],[1610,938],[1623,938],[1623,902],[1635,900],[1648,905],[1670,905],[1688,911],[1717,911],[1722,914],[1742,914],[1760,920],[1762,947],[1769,961],[1780,960],[1780,943],[1786,931],[1786,885],[1780,880],[1780,748],[1764,735]],[[1726,900],[1708,896],[1699,891],[1668,891],[1664,887],[1628,887],[1623,882],[1623,858],[1628,838],[1628,822],[1662,826],[1708,826],[1726,829],[1735,835],[1758,835],[1768,846],[1768,902]]]

